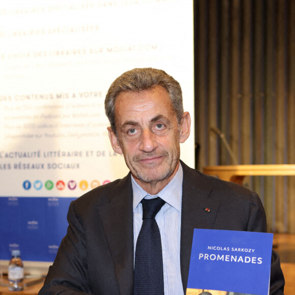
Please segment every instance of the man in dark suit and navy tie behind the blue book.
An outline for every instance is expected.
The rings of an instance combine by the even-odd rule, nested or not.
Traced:
[[[40,294],[184,294],[194,228],[266,230],[257,194],[180,161],[180,143],[189,137],[191,120],[171,76],[151,68],[124,73],[111,84],[105,110],[112,148],[124,155],[130,173],[71,203],[67,235]],[[161,245],[150,250],[161,253],[159,259],[145,257],[151,262],[146,265],[146,250],[139,249],[152,238],[140,233],[148,222],[143,206],[155,200],[162,203],[150,220]],[[145,242],[137,243],[142,238]],[[145,267],[151,269],[142,277],[139,270]],[[141,290],[153,284],[157,290],[158,283],[162,291]],[[274,252],[270,293],[283,294],[283,287]]]

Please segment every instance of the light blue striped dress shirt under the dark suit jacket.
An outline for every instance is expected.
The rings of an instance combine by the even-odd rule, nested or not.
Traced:
[[[149,195],[132,177],[133,188],[133,234],[134,257],[137,237],[142,225],[142,204],[145,197],[151,199],[160,197],[166,203],[156,215],[162,252],[165,295],[184,295],[180,269],[180,231],[183,169],[181,164],[174,178],[157,194]]]

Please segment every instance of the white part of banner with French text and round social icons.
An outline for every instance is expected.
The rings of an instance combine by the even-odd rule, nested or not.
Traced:
[[[108,87],[123,72],[163,69],[182,85],[185,110],[194,118],[192,1],[10,0],[0,8],[0,44],[6,212],[20,197],[78,197],[127,174],[109,143],[104,114]],[[181,146],[192,167],[193,125]],[[0,259],[7,259],[14,242],[1,243]]]

